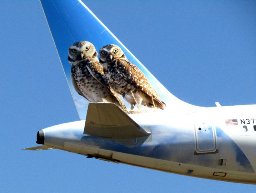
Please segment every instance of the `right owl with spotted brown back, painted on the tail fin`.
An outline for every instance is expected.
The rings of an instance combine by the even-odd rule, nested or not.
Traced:
[[[140,105],[164,109],[165,103],[161,101],[145,74],[127,60],[120,47],[113,44],[101,47],[99,62],[109,84],[130,103],[131,110],[135,105],[139,109]]]

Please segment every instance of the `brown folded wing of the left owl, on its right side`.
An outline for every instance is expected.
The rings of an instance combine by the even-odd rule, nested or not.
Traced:
[[[120,99],[119,94],[116,93],[113,88],[108,84],[107,78],[104,75],[103,68],[99,64],[98,61],[90,61],[90,63],[87,63],[86,65],[88,71],[90,74],[95,78],[100,84],[102,84],[113,96],[113,98],[118,101],[120,107],[124,110],[124,112],[127,111],[126,106],[124,105],[122,99]]]

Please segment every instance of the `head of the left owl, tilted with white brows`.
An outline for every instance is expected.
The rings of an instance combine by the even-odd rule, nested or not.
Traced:
[[[68,48],[68,61],[76,62],[87,58],[97,58],[97,51],[89,41],[78,41]]]

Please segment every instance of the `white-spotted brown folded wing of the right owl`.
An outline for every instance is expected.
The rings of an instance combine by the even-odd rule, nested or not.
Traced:
[[[163,105],[163,102],[161,101],[157,92],[153,86],[151,86],[145,74],[143,74],[143,72],[137,66],[128,60],[118,60],[116,61],[116,66],[118,67],[117,71],[119,71],[119,69],[122,70],[122,72],[119,73],[123,75],[125,80],[137,86],[142,92],[157,101],[159,105]]]

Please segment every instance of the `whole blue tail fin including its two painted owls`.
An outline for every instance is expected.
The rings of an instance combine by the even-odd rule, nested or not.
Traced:
[[[128,113],[198,109],[173,96],[80,0],[41,0],[41,5],[80,119],[85,119],[88,102],[116,103]],[[84,41],[92,47],[75,47]],[[90,71],[81,61],[92,49],[93,61],[100,59],[101,66]],[[71,59],[70,54],[77,58]],[[106,93],[114,95],[117,102]]]

